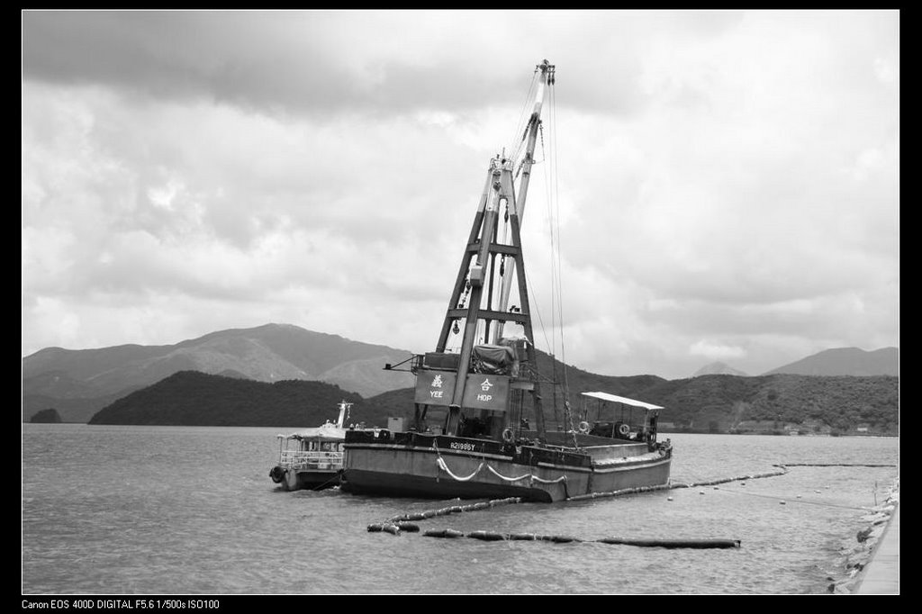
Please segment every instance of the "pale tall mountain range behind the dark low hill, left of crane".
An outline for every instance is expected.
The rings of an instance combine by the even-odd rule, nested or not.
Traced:
[[[181,371],[319,381],[373,396],[413,383],[407,373],[383,370],[410,355],[293,325],[224,330],[171,346],[44,348],[22,362],[23,420],[56,407],[65,422],[86,421],[116,398]]]

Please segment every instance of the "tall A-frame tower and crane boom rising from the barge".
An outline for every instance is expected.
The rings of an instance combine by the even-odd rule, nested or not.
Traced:
[[[442,325],[442,332],[436,345],[437,352],[444,352],[448,341],[449,332],[453,325],[464,323],[464,337],[461,344],[458,361],[457,377],[449,404],[448,419],[446,420],[446,434],[453,435],[457,432],[458,422],[463,407],[467,374],[470,369],[471,356],[474,346],[478,343],[478,324],[483,321],[483,337],[481,343],[496,342],[500,339],[502,325],[514,322],[522,325],[526,334],[526,355],[530,363],[531,382],[528,385],[514,386],[530,390],[535,409],[535,427],[538,431],[538,440],[546,441],[544,414],[541,407],[540,384],[537,377],[537,362],[535,348],[531,343],[534,334],[531,326],[531,310],[528,304],[526,289],[525,265],[522,258],[522,242],[520,236],[520,218],[525,208],[525,196],[528,189],[531,165],[534,159],[535,141],[540,125],[541,105],[544,98],[544,89],[553,83],[554,66],[545,60],[538,65],[540,81],[534,111],[526,126],[528,143],[526,157],[523,160],[522,199],[516,203],[514,189],[514,160],[497,156],[490,161],[487,170],[487,180],[483,193],[480,196],[477,215],[471,227],[465,253],[462,256],[461,266],[455,278],[455,289],[448,303],[448,310]],[[499,217],[508,215],[512,229],[510,243],[497,242],[497,229]],[[511,270],[500,272],[497,260],[510,258],[513,266]],[[491,292],[497,276],[502,277],[501,297],[497,305],[491,305]],[[519,301],[518,311],[506,311],[512,279],[518,282]],[[484,297],[484,286],[488,288]],[[466,293],[467,305],[463,304],[462,293]],[[467,296],[469,292],[469,296]],[[486,304],[483,300],[486,298]],[[495,325],[495,326],[493,326]]]

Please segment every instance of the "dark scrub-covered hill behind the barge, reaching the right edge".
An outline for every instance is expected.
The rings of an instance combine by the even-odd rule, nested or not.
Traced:
[[[583,392],[629,396],[664,407],[659,414],[663,431],[899,433],[899,379],[885,375],[699,375],[664,380],[653,375],[608,377],[571,368],[566,380],[573,411],[580,410]],[[409,419],[413,392],[395,390],[368,399],[368,404],[384,415]],[[542,396],[548,427],[564,425],[561,387],[545,384]]]

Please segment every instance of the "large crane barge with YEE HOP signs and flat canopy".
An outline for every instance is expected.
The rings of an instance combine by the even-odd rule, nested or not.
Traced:
[[[347,431],[342,490],[556,502],[668,482],[672,446],[656,441],[661,407],[588,393],[584,399],[597,403],[595,414],[586,407],[573,412],[564,400],[562,428],[546,427],[541,390],[549,380],[538,372],[532,343],[520,228],[555,67],[545,60],[535,75],[537,93],[521,139],[524,156],[490,160],[435,351],[384,366],[416,375],[411,426]],[[450,339],[456,348],[449,347]],[[429,426],[436,419],[441,424]]]

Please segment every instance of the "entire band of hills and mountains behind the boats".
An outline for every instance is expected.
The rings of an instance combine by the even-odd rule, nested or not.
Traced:
[[[335,418],[343,396],[367,411],[368,420],[410,418],[413,376],[382,369],[409,356],[291,325],[219,331],[173,346],[46,348],[23,360],[22,419],[53,407],[65,422],[306,427]],[[896,434],[898,380],[887,374],[896,372],[896,359],[896,348],[842,348],[758,377],[696,374],[669,381],[564,368],[538,352],[538,371],[550,428],[564,425],[563,396],[553,381],[567,384],[574,411],[580,392],[605,391],[666,407],[661,422],[679,429],[746,431],[753,421],[812,420],[841,432],[864,425]],[[775,373],[795,369],[810,373]],[[869,374],[815,377],[836,372]],[[202,379],[207,373],[217,379]],[[531,409],[526,402],[526,413]]]

